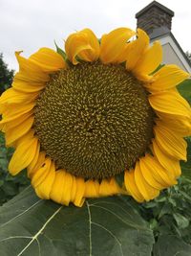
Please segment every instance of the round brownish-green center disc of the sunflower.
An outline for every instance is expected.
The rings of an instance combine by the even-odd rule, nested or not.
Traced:
[[[57,72],[34,117],[41,150],[57,168],[84,178],[132,168],[153,135],[147,93],[122,65],[83,63]]]

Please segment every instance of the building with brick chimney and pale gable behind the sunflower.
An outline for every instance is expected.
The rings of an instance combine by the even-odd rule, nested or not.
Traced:
[[[164,64],[177,64],[181,69],[191,73],[191,64],[182,51],[179,42],[171,32],[173,11],[159,4],[151,2],[136,14],[138,28],[147,32],[151,43],[159,40],[163,49]]]

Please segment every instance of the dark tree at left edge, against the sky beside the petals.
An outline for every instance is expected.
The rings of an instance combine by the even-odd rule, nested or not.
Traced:
[[[11,86],[14,70],[10,70],[0,53],[0,95]]]

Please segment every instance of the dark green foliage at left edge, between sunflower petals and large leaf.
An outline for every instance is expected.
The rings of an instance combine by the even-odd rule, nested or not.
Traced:
[[[26,177],[26,172],[16,176],[8,173],[12,152],[11,148],[5,147],[4,135],[0,132],[0,205],[16,196],[30,182]]]

